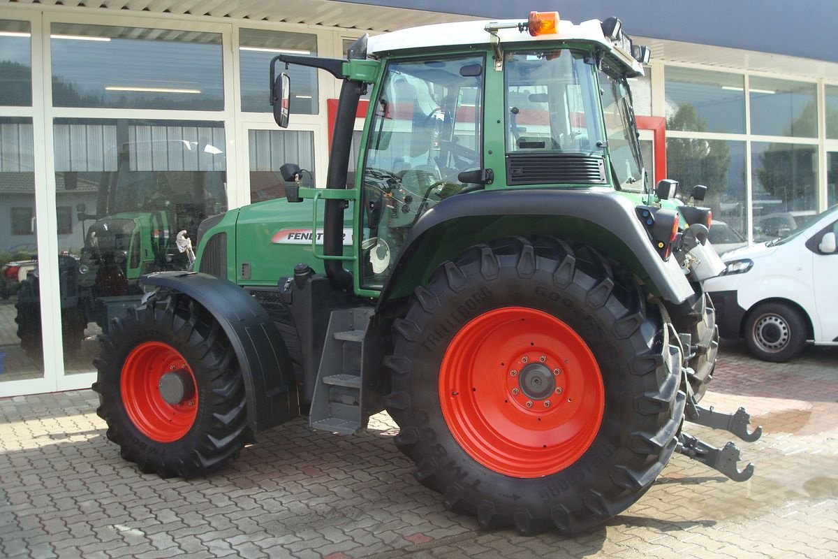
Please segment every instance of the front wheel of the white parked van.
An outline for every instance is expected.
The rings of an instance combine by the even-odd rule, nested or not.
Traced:
[[[747,314],[745,343],[758,359],[783,363],[806,344],[806,322],[786,303],[763,303]]]

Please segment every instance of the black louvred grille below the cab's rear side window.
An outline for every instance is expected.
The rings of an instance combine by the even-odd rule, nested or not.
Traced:
[[[605,160],[590,155],[508,155],[506,184],[606,184]]]

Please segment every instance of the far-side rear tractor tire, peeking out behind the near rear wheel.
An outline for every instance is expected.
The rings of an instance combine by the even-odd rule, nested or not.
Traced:
[[[696,401],[701,401],[716,370],[719,327],[716,325],[716,308],[713,307],[710,295],[701,289],[700,283],[693,284],[693,287],[697,292],[692,299],[690,311],[671,313],[671,316],[675,330],[691,334],[691,347],[684,348],[687,354],[686,365],[692,371],[687,379]]]

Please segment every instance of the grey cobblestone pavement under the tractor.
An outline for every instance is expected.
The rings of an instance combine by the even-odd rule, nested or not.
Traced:
[[[774,365],[723,344],[711,387],[705,403],[747,406],[763,425],[739,445],[753,479],[675,455],[637,504],[575,537],[478,531],[445,510],[384,414],[359,437],[277,427],[220,474],[184,481],[122,461],[91,391],[0,400],[0,556],[838,556],[838,348]]]

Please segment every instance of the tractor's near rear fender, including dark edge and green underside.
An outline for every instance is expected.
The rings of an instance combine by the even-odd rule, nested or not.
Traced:
[[[416,222],[379,300],[382,308],[427,282],[433,270],[474,244],[504,236],[547,235],[579,241],[620,261],[668,303],[693,289],[677,261],[661,259],[634,212],[613,191],[515,189],[453,196]]]

